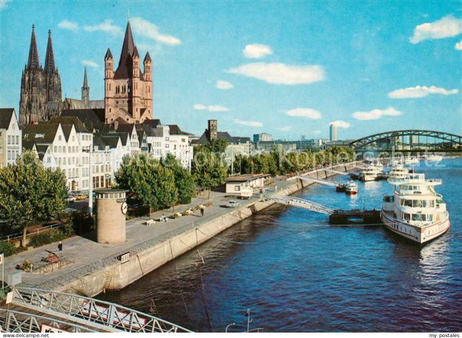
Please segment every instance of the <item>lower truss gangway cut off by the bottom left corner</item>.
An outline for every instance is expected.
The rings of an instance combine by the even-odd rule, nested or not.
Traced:
[[[97,332],[91,328],[40,314],[0,308],[0,332]]]

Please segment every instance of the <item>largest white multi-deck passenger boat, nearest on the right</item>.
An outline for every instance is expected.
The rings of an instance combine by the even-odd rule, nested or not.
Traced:
[[[406,178],[389,179],[393,196],[383,198],[380,217],[385,226],[417,243],[443,235],[450,226],[443,196],[434,187],[441,179],[426,179],[425,174],[409,173]]]

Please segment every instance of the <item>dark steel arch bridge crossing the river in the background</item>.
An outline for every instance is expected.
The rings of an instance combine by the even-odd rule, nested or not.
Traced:
[[[425,138],[425,142],[420,141],[421,137]],[[408,138],[407,142],[403,142],[405,138]],[[350,146],[356,150],[365,150],[366,148],[391,149],[392,147],[399,148],[400,146],[404,148],[404,144],[406,144],[406,148],[408,146],[409,150],[428,149],[432,148],[429,145],[434,144],[434,142],[428,142],[429,138],[441,141],[441,147],[438,148],[438,150],[462,148],[462,136],[443,131],[417,129],[385,131],[383,133],[365,136],[351,142]],[[379,146],[377,146],[377,144]]]

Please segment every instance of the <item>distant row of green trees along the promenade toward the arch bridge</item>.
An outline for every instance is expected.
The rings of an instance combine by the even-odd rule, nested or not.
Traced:
[[[353,159],[353,149],[348,147],[332,147],[317,152],[305,150],[286,154],[282,154],[277,148],[274,148],[270,153],[252,156],[237,154],[233,167],[235,173],[281,175],[313,169],[319,165],[345,163]]]

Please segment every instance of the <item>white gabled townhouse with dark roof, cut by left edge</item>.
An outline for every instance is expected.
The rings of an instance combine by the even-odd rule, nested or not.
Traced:
[[[14,108],[0,108],[0,168],[13,164],[22,153],[22,131]]]

